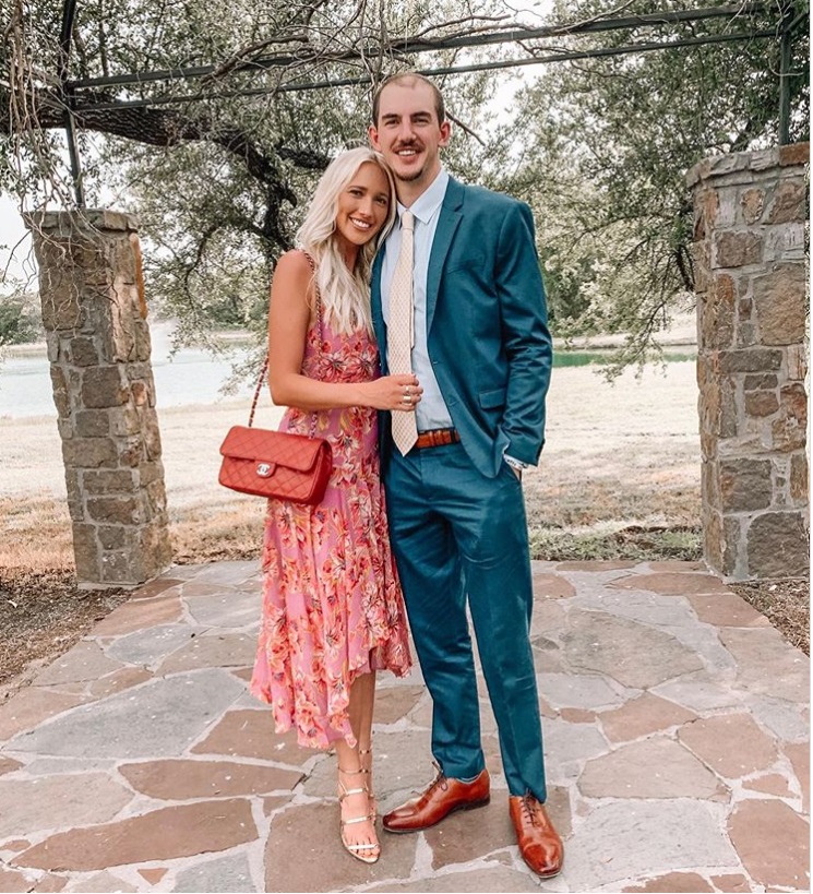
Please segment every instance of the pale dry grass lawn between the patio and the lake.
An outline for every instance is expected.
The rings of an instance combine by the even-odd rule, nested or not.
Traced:
[[[632,372],[610,385],[587,367],[557,369],[548,441],[525,475],[537,558],[553,543],[588,544],[631,525],[695,528],[700,448],[694,365]],[[168,510],[179,562],[256,555],[261,501],[217,485],[218,446],[248,402],[159,413]],[[266,407],[258,424],[273,427]],[[0,568],[70,569],[70,518],[53,419],[0,419]],[[547,545],[547,546],[546,546]]]

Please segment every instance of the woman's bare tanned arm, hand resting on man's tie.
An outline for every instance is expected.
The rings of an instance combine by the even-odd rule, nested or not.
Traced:
[[[275,404],[300,409],[366,406],[414,410],[422,389],[415,376],[386,376],[373,382],[319,382],[301,372],[311,324],[312,271],[301,251],[286,252],[277,262],[268,312],[268,381]],[[411,403],[404,403],[410,386]]]

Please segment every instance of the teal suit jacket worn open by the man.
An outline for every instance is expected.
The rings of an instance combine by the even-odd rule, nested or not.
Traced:
[[[381,264],[372,318],[386,374]],[[530,208],[450,178],[427,275],[427,339],[443,400],[475,466],[495,477],[507,453],[536,465],[545,443],[552,344]],[[382,467],[392,438],[380,416]]]

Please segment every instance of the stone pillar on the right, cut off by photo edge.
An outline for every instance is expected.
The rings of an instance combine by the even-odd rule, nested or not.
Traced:
[[[809,144],[707,158],[694,192],[705,558],[806,575]]]

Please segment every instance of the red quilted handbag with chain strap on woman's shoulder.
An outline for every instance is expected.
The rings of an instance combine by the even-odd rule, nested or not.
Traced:
[[[313,269],[313,260],[308,255]],[[315,271],[314,271],[315,272]],[[322,299],[316,289],[319,343],[322,334]],[[232,426],[220,444],[220,474],[217,480],[240,493],[289,500],[291,503],[322,502],[333,468],[333,451],[324,438],[315,437],[316,417],[311,421],[310,438],[287,431],[252,428],[256,402],[265,382],[268,358],[265,358],[254,389],[248,426]]]

